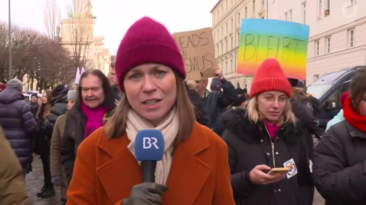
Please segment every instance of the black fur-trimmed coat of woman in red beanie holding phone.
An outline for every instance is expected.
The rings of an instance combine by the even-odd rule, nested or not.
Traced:
[[[234,109],[221,117],[227,121],[222,137],[229,149],[231,186],[236,204],[312,204],[313,193],[309,193],[308,188],[313,185],[301,127],[292,123],[284,124],[272,144],[264,122],[251,123],[245,110]],[[255,166],[284,167],[290,160],[295,162],[292,171],[297,171],[290,178],[269,185],[254,185],[250,181],[249,174]]]

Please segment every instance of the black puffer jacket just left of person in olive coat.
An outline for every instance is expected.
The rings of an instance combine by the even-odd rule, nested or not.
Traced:
[[[51,140],[52,138],[53,127],[55,126],[57,117],[66,113],[68,90],[70,90],[70,87],[63,89],[60,94],[51,101],[51,111],[41,127],[42,133],[48,140]]]

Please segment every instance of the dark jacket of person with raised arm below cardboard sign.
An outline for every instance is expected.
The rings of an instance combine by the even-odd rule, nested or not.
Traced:
[[[208,92],[203,97],[203,103],[206,107],[206,116],[208,116],[210,125],[209,127],[216,130],[217,120],[221,113],[226,111],[226,108],[231,105],[238,97],[234,85],[230,81],[223,78],[221,80],[221,86],[223,91],[220,92]]]

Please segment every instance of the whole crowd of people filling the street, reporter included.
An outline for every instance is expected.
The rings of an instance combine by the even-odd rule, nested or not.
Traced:
[[[220,68],[210,86],[185,80],[184,66],[172,35],[145,17],[108,76],[86,70],[29,102],[20,80],[1,84],[0,204],[29,204],[33,153],[44,174],[37,197],[60,186],[63,205],[311,205],[314,187],[327,205],[366,203],[365,69],[323,134],[319,101],[276,59],[262,62],[249,92]],[[154,182],[143,181],[135,154],[144,129],[164,139]],[[290,171],[271,172],[279,167]]]

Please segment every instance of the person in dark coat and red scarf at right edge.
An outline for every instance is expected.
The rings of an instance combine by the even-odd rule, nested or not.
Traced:
[[[313,177],[326,205],[366,204],[366,69],[352,77],[345,120],[315,147]]]

